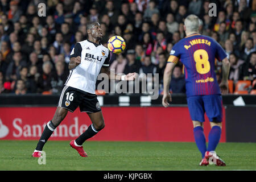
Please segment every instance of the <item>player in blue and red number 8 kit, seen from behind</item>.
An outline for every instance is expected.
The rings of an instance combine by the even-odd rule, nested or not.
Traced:
[[[200,166],[207,166],[209,159],[216,166],[226,166],[225,162],[216,155],[215,149],[221,137],[222,97],[228,93],[228,75],[230,63],[226,53],[215,40],[199,34],[199,18],[189,15],[185,19],[186,37],[174,45],[164,71],[164,94],[162,104],[169,105],[171,100],[169,85],[172,70],[177,61],[184,64],[186,94],[189,114],[193,121],[193,133],[196,145],[202,154]],[[214,61],[222,61],[222,81],[218,85],[214,73]],[[204,114],[210,121],[208,147],[203,130]]]

